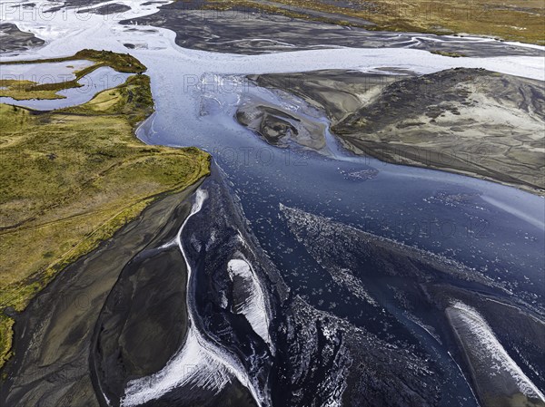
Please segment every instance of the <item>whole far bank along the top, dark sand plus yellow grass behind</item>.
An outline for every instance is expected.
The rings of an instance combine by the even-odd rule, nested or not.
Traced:
[[[161,6],[154,15],[134,21],[172,29],[180,37],[178,44],[186,48],[204,49],[203,44],[207,43],[209,50],[218,52],[235,49],[234,52],[256,53],[255,46],[264,48],[265,52],[297,49],[302,37],[310,44],[350,46],[347,44],[351,42],[350,38],[353,41],[354,33],[360,31],[369,34],[472,34],[542,45],[545,44],[542,35],[544,13],[539,2],[529,4],[521,0],[510,5],[495,0],[479,5],[422,0],[411,5],[400,5],[391,0],[365,3],[206,0],[173,2]],[[335,28],[341,28],[341,32],[335,33]],[[199,35],[194,35],[197,29]],[[325,33],[321,33],[321,29]],[[348,30],[350,35],[346,33]],[[313,35],[306,34],[308,32]],[[361,40],[352,46],[362,46]]]

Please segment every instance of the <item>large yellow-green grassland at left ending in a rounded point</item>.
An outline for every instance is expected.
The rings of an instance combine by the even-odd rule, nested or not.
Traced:
[[[0,366],[13,334],[6,308],[24,310],[65,266],[155,199],[209,173],[202,150],[134,137],[153,106],[145,75],[63,110],[0,104]]]

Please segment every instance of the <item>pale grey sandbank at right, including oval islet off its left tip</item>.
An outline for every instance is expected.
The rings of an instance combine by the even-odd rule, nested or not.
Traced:
[[[475,69],[422,76],[323,71],[250,78],[283,92],[284,99],[291,94],[324,111],[332,132],[356,154],[545,194],[540,81]],[[256,109],[271,109],[256,103],[239,109],[237,119],[244,125],[250,124],[244,120],[248,114],[260,117]],[[288,129],[292,141],[306,147],[316,140],[325,144],[313,130],[315,123],[293,111],[278,107],[275,114],[265,113],[250,127],[262,135],[276,129],[274,142],[264,137],[268,142],[277,144]],[[313,144],[304,138],[305,130],[314,134]]]

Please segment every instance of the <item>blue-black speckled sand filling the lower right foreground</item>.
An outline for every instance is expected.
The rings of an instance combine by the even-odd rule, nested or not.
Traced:
[[[340,389],[347,406],[478,405],[456,364],[463,365],[463,357],[444,314],[453,301],[479,308],[510,354],[524,349],[517,363],[537,366],[530,378],[541,383],[544,325],[531,307],[481,272],[283,206],[268,234],[289,250],[269,258],[244,230],[240,208],[227,198],[223,181],[207,179],[203,188],[209,198],[183,233],[197,270],[198,323],[214,343],[240,355],[256,386],[270,389],[272,405],[323,405]],[[275,352],[268,352],[229,306],[236,293],[226,264],[240,253],[263,278]],[[271,262],[279,258],[282,262]],[[295,264],[308,278],[309,290],[320,290],[320,305],[286,290],[280,276],[290,276]],[[513,329],[524,334],[510,333]],[[484,365],[481,373],[492,369]],[[501,401],[510,396],[497,388],[486,391]],[[173,405],[191,394],[181,387],[147,405]]]

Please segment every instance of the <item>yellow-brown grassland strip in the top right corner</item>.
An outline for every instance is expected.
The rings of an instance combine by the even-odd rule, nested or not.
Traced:
[[[214,3],[214,2],[211,2]],[[417,0],[400,5],[392,0],[332,2],[331,0],[228,0],[219,4],[253,6],[262,10],[304,15],[304,18],[334,24],[366,26],[381,31],[430,34],[468,33],[510,41],[544,44],[543,5],[516,0],[509,5],[487,0],[479,4]],[[323,15],[323,14],[327,15]],[[372,23],[372,25],[369,24]],[[370,26],[368,26],[370,25]]]

